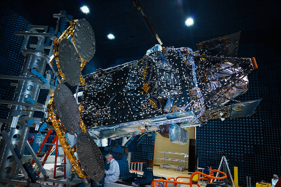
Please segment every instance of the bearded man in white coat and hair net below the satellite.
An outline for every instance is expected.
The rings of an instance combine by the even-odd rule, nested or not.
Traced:
[[[104,173],[106,174],[106,177],[104,178],[104,183],[116,182],[119,179],[119,174],[120,174],[119,164],[112,157],[111,154],[107,154],[105,158],[107,164],[110,163],[110,165],[108,170],[104,170]]]

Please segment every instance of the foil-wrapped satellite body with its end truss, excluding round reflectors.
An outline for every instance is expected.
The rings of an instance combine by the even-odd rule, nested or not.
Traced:
[[[254,70],[252,59],[236,57],[239,38],[240,32],[202,42],[197,52],[155,45],[143,59],[84,76],[84,124],[92,128],[91,135],[102,138],[126,134],[125,128],[118,131],[126,124],[161,131],[163,125],[202,124],[220,118],[220,112],[231,117],[233,106],[226,104],[247,91],[247,75]],[[258,102],[248,109],[253,112]],[[184,116],[189,118],[177,120]],[[113,126],[114,133],[96,126]],[[128,133],[138,133],[131,128]]]

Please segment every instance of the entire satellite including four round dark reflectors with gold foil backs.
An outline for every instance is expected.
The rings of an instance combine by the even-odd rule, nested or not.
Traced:
[[[59,75],[68,84],[82,87],[83,93],[76,100],[59,83],[47,109],[72,171],[81,178],[102,179],[104,163],[93,138],[155,131],[165,136],[173,131],[171,126],[185,133],[183,128],[211,119],[252,115],[260,99],[234,100],[247,91],[247,75],[257,69],[254,58],[237,57],[239,38],[237,32],[201,42],[196,52],[155,45],[143,59],[83,77],[81,71],[95,53],[95,36],[85,19],[71,21],[54,40],[53,52]],[[73,147],[66,133],[78,134]]]

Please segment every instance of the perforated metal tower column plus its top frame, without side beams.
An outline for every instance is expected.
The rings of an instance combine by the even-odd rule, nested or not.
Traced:
[[[37,30],[44,30],[43,33],[38,33]],[[11,123],[6,123],[5,131],[11,143],[14,147],[19,149],[20,154],[23,154],[25,148],[25,142],[27,140],[27,135],[29,133],[29,127],[25,125],[19,125],[19,117],[24,115],[25,117],[32,117],[33,111],[27,109],[33,109],[32,106],[20,105],[23,103],[25,98],[32,98],[37,100],[40,90],[40,85],[29,80],[32,76],[28,73],[30,69],[34,68],[39,73],[44,75],[46,64],[48,63],[49,57],[44,52],[44,42],[46,37],[52,39],[55,38],[54,34],[47,33],[48,26],[35,26],[30,25],[28,32],[15,32],[16,35],[24,36],[23,46],[21,52],[25,56],[25,61],[23,63],[23,68],[21,70],[20,79],[17,83],[17,88],[13,98],[13,103],[9,110],[8,119],[11,120]],[[30,36],[38,38],[37,45],[34,50],[27,49],[27,44]],[[48,36],[46,35],[48,34]],[[23,111],[25,110],[25,112]],[[7,147],[4,139],[1,139],[0,142],[0,178],[13,178],[16,177],[19,173],[19,167],[15,161],[10,149]],[[11,184],[1,182],[0,186],[9,187]]]

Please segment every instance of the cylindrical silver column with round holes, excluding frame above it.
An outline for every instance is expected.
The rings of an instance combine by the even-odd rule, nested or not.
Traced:
[[[27,71],[32,68],[36,68],[39,73],[44,74],[46,64],[49,59],[45,54],[33,51],[24,51],[23,55],[25,56],[25,63],[23,64],[20,76],[31,77]],[[13,101],[23,102],[23,99],[27,97],[37,100],[39,90],[40,86],[37,83],[19,80]],[[21,109],[25,109],[25,106],[17,105],[10,108],[9,118],[12,119],[12,123],[10,125],[6,125],[5,131],[8,131],[7,133],[10,140],[22,155],[25,148],[23,142],[27,139],[29,128],[27,126],[17,125],[18,117],[15,115],[17,113],[15,111],[20,111]],[[27,114],[29,117],[32,115],[33,112],[28,112]],[[13,128],[10,128],[10,126]],[[6,143],[3,139],[1,139],[0,147],[0,178],[12,178],[18,174],[19,168],[17,167],[17,163],[11,155],[9,148],[6,147]],[[0,186],[9,187],[11,184],[1,183]]]

